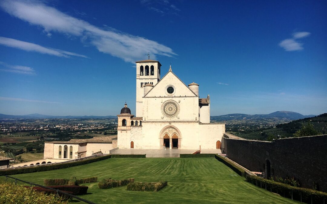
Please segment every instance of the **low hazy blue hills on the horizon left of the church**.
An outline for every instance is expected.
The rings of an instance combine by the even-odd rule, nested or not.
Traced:
[[[42,115],[38,113],[34,114],[28,114],[28,115],[22,115],[22,116],[14,116],[14,115],[5,115],[0,114],[0,119],[46,119],[46,118],[67,118],[67,119],[74,119],[74,118],[117,118],[117,116],[48,116],[48,115]]]

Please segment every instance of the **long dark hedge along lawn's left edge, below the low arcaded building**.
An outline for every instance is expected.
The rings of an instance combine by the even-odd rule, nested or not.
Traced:
[[[85,160],[76,161],[76,162],[62,163],[62,164],[39,165],[39,166],[35,166],[35,167],[26,167],[26,168],[17,168],[17,169],[8,168],[6,170],[0,170],[0,174],[14,175],[14,174],[25,174],[25,173],[33,173],[33,172],[40,172],[40,171],[49,171],[49,170],[54,170],[54,169],[62,169],[62,168],[68,168],[68,167],[72,167],[72,166],[89,164],[89,163],[98,162],[98,161],[109,159],[109,158],[111,158],[111,155],[95,157],[92,159],[85,159]]]

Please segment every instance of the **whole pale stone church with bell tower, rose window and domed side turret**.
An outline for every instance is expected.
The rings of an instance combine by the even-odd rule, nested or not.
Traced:
[[[161,79],[156,60],[136,62],[136,115],[118,115],[119,149],[220,149],[224,123],[210,123],[210,97],[172,71]]]

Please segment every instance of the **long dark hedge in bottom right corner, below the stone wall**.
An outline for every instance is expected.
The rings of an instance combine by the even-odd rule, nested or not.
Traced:
[[[277,193],[281,196],[291,198],[292,200],[298,200],[303,203],[325,203],[327,201],[327,193],[325,192],[295,187],[248,174],[246,175],[246,180],[260,188],[265,188],[273,193]]]

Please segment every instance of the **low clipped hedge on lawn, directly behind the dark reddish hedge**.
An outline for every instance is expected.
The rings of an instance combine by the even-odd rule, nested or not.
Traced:
[[[97,177],[88,177],[76,179],[76,177],[71,177],[70,179],[44,179],[44,185],[78,185],[82,183],[94,183],[98,180]]]

